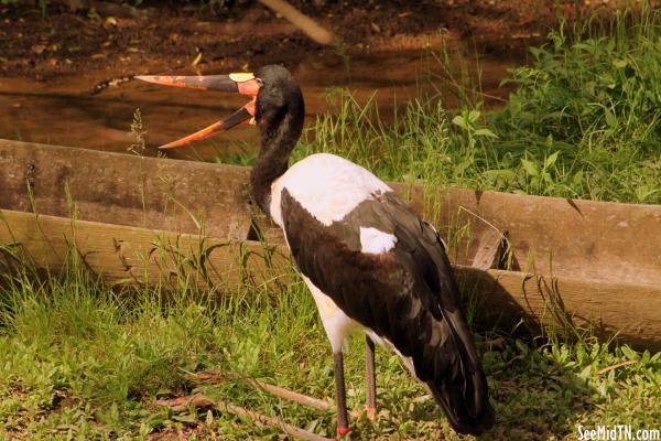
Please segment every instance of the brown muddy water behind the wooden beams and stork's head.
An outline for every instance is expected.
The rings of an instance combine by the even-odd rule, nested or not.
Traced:
[[[457,78],[463,71],[464,76],[474,80],[479,72],[483,93],[492,96],[485,98],[487,105],[498,106],[509,93],[499,88],[499,83],[507,76],[508,67],[521,63],[521,56],[476,56],[469,51],[456,50],[449,65],[444,65],[426,50],[407,49],[351,56],[348,62],[340,56],[319,56],[305,60],[293,73],[303,88],[310,122],[314,115],[329,110],[324,92],[333,86],[354,90],[359,101],[376,92],[380,114],[384,117],[392,114],[395,103],[415,97],[421,89],[442,90],[449,97],[447,106],[456,106],[452,99],[456,84],[443,79],[447,78],[447,71],[454,72]],[[154,155],[155,146],[215,122],[246,103],[241,96],[159,87],[138,80],[91,95],[99,77],[102,73],[96,72],[50,82],[0,78],[0,108],[4,109],[0,114],[0,138],[127,152],[134,140],[129,132],[131,120],[134,110],[140,108],[148,132],[144,154]],[[236,140],[253,146],[256,135],[252,128],[241,127],[227,133],[225,139],[169,154],[209,160]]]

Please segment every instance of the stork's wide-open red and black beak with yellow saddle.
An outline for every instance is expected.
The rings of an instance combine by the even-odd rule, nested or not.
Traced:
[[[259,78],[252,74],[229,74],[229,75],[208,75],[208,76],[161,76],[161,75],[140,75],[136,76],[143,82],[160,84],[163,86],[186,87],[198,90],[220,90],[235,94],[248,95],[252,99],[246,106],[235,111],[225,119],[210,125],[193,135],[170,142],[159,149],[176,149],[177,147],[188,146],[193,141],[207,139],[226,132],[240,123],[254,123],[254,106],[257,95],[262,85]]]

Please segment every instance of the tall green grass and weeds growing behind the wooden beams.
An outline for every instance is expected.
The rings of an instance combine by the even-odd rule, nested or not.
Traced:
[[[640,15],[640,13],[642,15]],[[421,97],[383,122],[373,97],[327,92],[293,160],[337,153],[393,181],[559,197],[661,203],[661,11],[564,28],[517,67],[503,108],[485,112],[479,85],[463,107]],[[578,35],[578,36],[577,36]],[[443,54],[433,60],[446,63]],[[459,96],[462,98],[462,96]],[[226,160],[250,164],[254,150]]]

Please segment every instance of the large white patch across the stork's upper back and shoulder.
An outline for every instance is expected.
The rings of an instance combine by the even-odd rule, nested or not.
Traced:
[[[373,193],[392,192],[383,181],[344,158],[312,154],[271,184],[271,217],[282,226],[281,193],[286,189],[303,208],[325,226],[342,220]]]

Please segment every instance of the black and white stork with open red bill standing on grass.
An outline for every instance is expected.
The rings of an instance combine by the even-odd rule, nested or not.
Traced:
[[[257,125],[260,149],[250,173],[251,197],[282,228],[319,312],[334,356],[338,437],[351,430],[344,351],[354,331],[366,336],[370,419],[377,413],[377,343],[402,358],[456,432],[478,435],[494,426],[487,379],[441,236],[388,184],[347,159],[316,153],[289,165],[305,104],[285,67],[137,78],[251,98],[229,117],[161,149],[185,147],[240,123]]]

